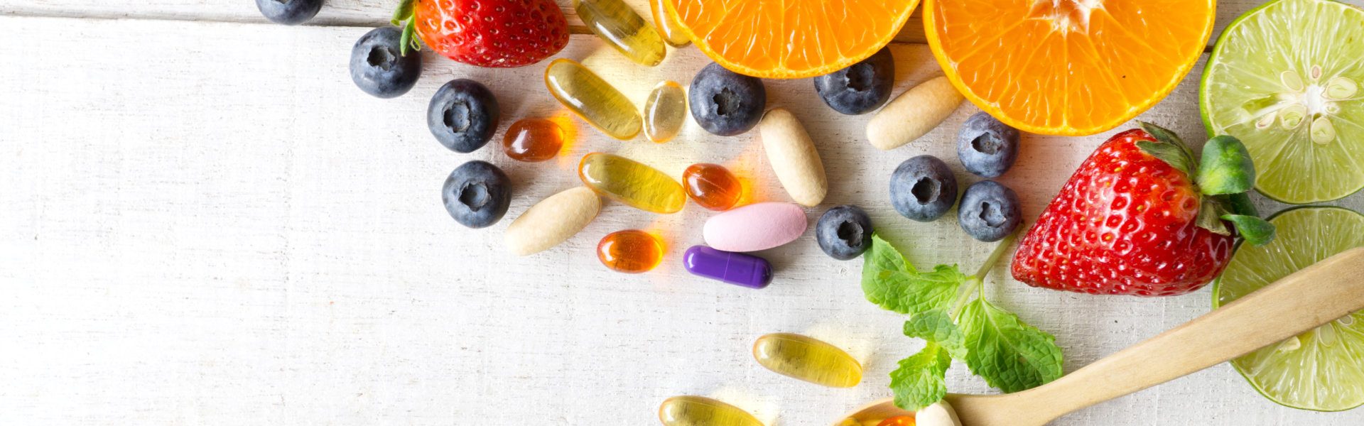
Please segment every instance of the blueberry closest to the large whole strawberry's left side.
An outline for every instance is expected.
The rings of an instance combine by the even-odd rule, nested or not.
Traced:
[[[1019,194],[994,180],[977,182],[962,194],[956,221],[974,239],[986,243],[1004,239],[1023,221]]]

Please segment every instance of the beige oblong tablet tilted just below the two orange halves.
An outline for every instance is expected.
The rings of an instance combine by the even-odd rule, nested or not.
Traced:
[[[919,83],[892,100],[866,123],[866,139],[883,150],[900,147],[941,124],[964,100],[947,76]]]

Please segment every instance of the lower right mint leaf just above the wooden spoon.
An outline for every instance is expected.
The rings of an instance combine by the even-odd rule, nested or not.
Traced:
[[[962,307],[959,325],[970,348],[966,365],[990,386],[1012,393],[1061,377],[1056,337],[1018,315],[975,299]]]

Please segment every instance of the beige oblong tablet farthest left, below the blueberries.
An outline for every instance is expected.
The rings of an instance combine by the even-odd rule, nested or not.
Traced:
[[[531,255],[558,246],[582,231],[597,212],[602,212],[602,198],[588,187],[550,195],[507,225],[507,250],[514,255]]]

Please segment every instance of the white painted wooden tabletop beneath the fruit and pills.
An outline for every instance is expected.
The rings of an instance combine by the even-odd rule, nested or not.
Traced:
[[[904,317],[862,298],[861,262],[825,257],[813,232],[761,253],[777,268],[761,291],[682,269],[711,214],[693,203],[657,216],[608,202],[567,243],[506,254],[510,220],[577,186],[574,165],[593,150],[674,176],[722,162],[757,183],[756,199],[787,195],[756,134],[712,137],[689,122],[666,145],[614,141],[544,91],[543,63],[487,70],[427,52],[416,89],[372,98],[346,61],[389,3],[330,1],[315,25],[286,27],[263,23],[248,0],[0,0],[0,423],[653,425],[663,399],[712,395],[769,426],[803,426],[888,395],[887,373],[919,343],[900,335]],[[1218,22],[1255,3],[1222,1]],[[892,45],[896,93],[938,72],[914,42],[918,29]],[[657,81],[686,85],[707,63],[694,48],[670,48],[644,70],[582,34],[559,56],[640,105]],[[1202,141],[1200,72],[1142,119]],[[510,161],[496,142],[446,150],[424,112],[453,78],[498,94],[503,130],[551,116],[576,141],[542,164]],[[831,179],[825,203],[807,209],[812,224],[855,203],[917,265],[971,269],[990,251],[953,214],[913,223],[887,197],[895,165],[921,153],[948,160],[963,187],[978,180],[952,143],[974,106],[883,153],[863,141],[869,116],[825,108],[807,79],[765,83],[768,106],[806,123]],[[1026,135],[1000,180],[1035,217],[1113,132]],[[475,158],[516,182],[507,217],[487,229],[460,227],[441,205],[445,176]],[[1364,209],[1364,195],[1335,205]],[[659,269],[626,276],[597,262],[597,239],[627,228],[666,235]],[[1003,264],[989,298],[1056,335],[1067,371],[1210,304],[1209,289],[1161,299],[1034,289]],[[863,360],[863,384],[828,389],[764,370],[749,351],[771,332],[848,348]],[[990,392],[963,366],[948,375],[955,392]],[[1361,425],[1364,410],[1284,408],[1222,365],[1056,423]]]

